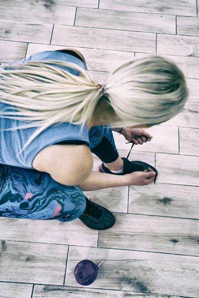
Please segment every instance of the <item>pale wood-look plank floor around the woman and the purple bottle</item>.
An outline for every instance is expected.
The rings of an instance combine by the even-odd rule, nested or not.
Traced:
[[[157,53],[190,87],[183,112],[129,157],[157,167],[156,185],[85,192],[114,213],[113,228],[0,218],[0,298],[199,298],[198,13],[197,0],[0,0],[1,65],[74,47],[101,83],[118,62]],[[74,279],[82,259],[105,260],[88,287]]]

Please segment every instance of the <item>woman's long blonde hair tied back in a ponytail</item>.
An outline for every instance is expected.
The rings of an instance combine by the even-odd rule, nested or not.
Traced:
[[[83,128],[103,96],[92,74],[74,63],[34,61],[7,68],[0,70],[0,102],[15,111],[5,109],[0,117],[30,122],[11,130],[38,127],[23,149],[52,124],[70,122]],[[189,94],[182,71],[173,61],[156,55],[122,63],[110,72],[103,87],[112,126],[165,122],[183,109]]]

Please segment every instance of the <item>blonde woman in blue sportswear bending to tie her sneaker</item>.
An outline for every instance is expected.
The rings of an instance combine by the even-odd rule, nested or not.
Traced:
[[[157,176],[151,165],[119,156],[110,125],[146,143],[152,136],[142,128],[171,119],[187,99],[184,74],[159,56],[123,63],[104,85],[73,49],[1,68],[0,216],[110,228],[112,213],[82,191],[147,185]],[[99,172],[91,152],[102,161]]]

